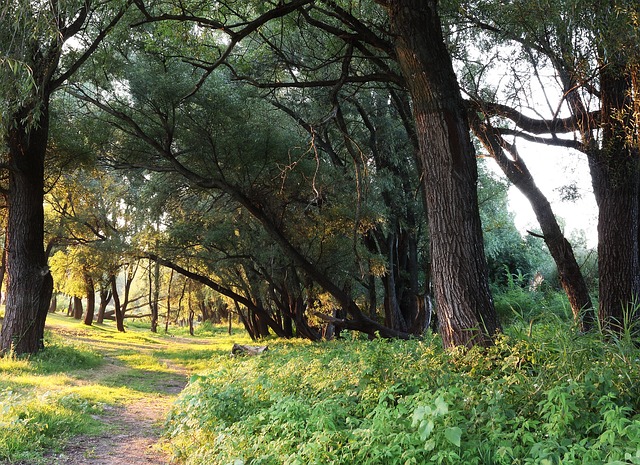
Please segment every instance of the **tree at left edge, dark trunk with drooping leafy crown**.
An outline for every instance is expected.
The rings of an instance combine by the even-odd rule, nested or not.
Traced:
[[[96,51],[128,6],[118,0],[11,0],[0,7],[0,136],[9,173],[9,284],[2,352],[35,353],[42,348],[53,289],[42,207],[51,95]],[[68,47],[72,38],[78,39],[77,47]]]

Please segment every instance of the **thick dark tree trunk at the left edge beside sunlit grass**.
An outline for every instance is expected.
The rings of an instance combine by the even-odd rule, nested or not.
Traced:
[[[17,127],[7,137],[9,215],[7,222],[7,303],[0,352],[36,353],[44,347],[44,324],[53,278],[44,251],[44,161],[49,135],[48,105],[42,103],[38,126]]]

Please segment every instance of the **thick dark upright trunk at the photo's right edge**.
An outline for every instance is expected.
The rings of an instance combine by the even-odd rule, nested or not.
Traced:
[[[602,149],[589,157],[598,204],[598,311],[603,328],[615,332],[638,318],[640,295],[640,164],[638,147],[630,142],[635,138],[637,144],[638,128],[629,67],[610,62],[602,70]]]

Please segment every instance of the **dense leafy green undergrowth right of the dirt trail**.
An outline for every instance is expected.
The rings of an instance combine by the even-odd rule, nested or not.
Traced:
[[[220,357],[171,446],[186,464],[640,463],[637,362],[561,323],[513,333],[453,354],[353,339]]]

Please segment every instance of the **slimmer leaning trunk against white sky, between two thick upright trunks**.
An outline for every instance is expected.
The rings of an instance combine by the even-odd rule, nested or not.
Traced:
[[[595,313],[589,289],[573,254],[573,248],[556,221],[551,204],[536,186],[522,158],[514,153],[514,159],[511,160],[503,152],[505,149],[514,151],[515,148],[505,147],[505,141],[495,129],[482,123],[475,114],[470,118],[476,136],[496,160],[509,181],[529,200],[542,229],[545,244],[558,268],[560,284],[569,299],[574,320],[582,331],[591,330],[595,323]]]

